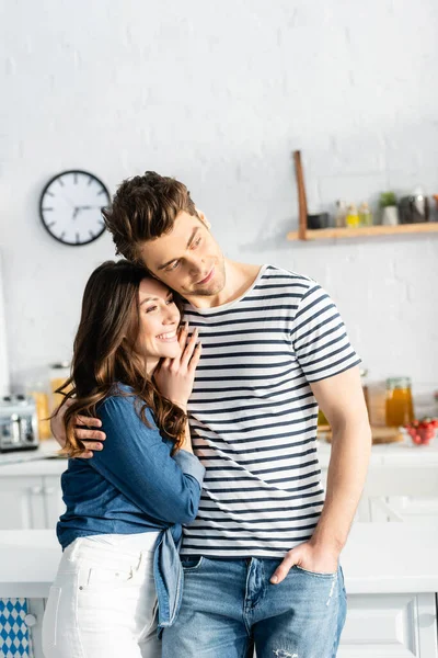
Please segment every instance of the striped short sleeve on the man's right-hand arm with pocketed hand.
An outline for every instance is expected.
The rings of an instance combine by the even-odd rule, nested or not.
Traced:
[[[291,340],[308,382],[333,377],[360,363],[335,303],[319,284],[312,284],[299,303]]]

